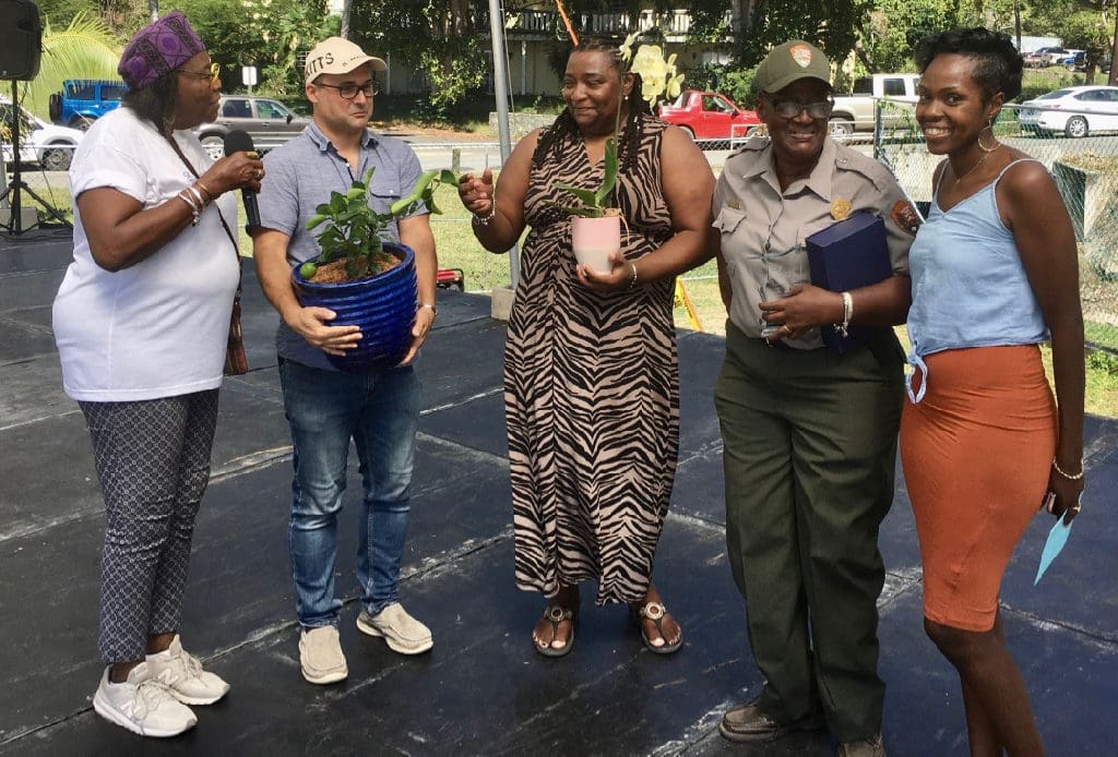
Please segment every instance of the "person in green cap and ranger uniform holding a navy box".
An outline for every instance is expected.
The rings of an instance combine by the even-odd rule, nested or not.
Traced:
[[[767,741],[826,726],[840,755],[883,757],[878,530],[903,396],[888,326],[910,303],[911,209],[883,165],[830,138],[830,79],[814,45],[775,47],[755,78],[769,138],[732,154],[714,191],[730,316],[714,387],[727,552],[765,681],[720,730]],[[884,219],[892,275],[851,291],[814,286],[805,237],[858,211]],[[824,345],[851,323],[880,330],[843,354]]]

